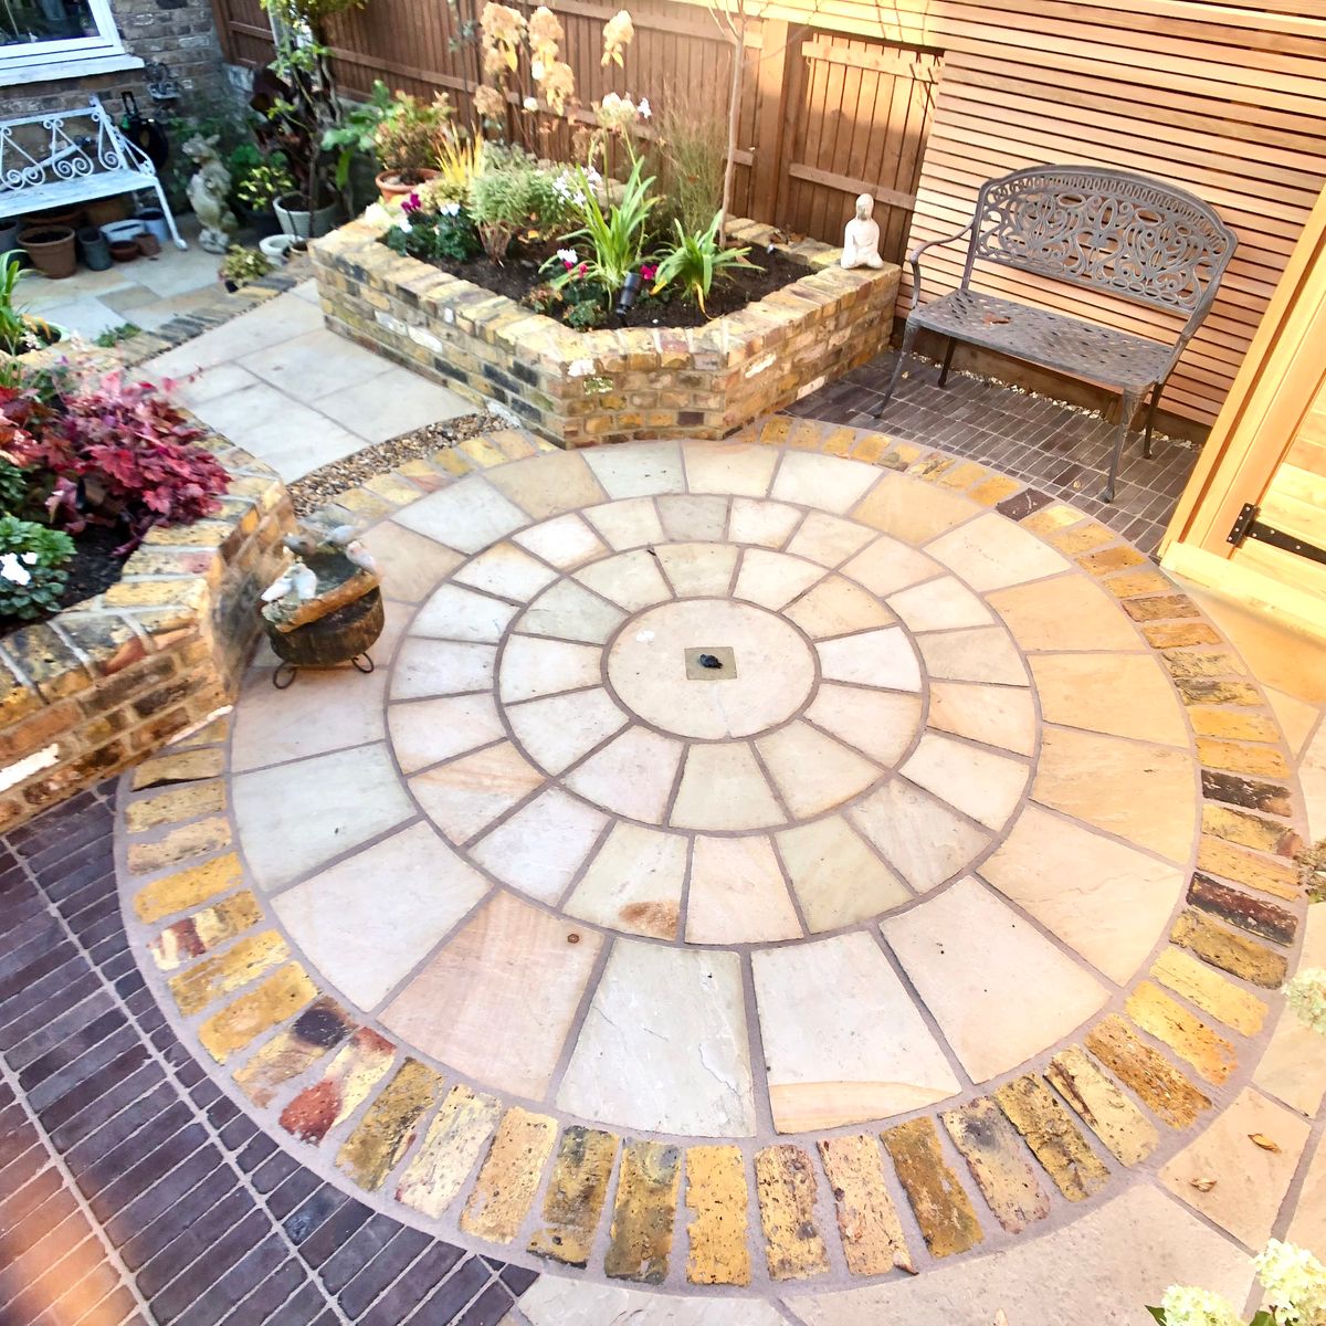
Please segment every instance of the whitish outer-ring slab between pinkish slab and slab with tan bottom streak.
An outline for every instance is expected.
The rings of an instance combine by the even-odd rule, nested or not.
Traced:
[[[736,956],[617,940],[557,1103],[623,1128],[749,1135],[754,1097]]]

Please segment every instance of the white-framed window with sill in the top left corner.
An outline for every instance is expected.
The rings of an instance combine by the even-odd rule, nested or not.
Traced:
[[[0,0],[0,84],[123,69],[109,0]]]

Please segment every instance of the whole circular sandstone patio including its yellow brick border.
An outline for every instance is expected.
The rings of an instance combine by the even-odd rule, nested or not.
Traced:
[[[467,444],[366,536],[374,675],[263,656],[129,777],[141,961],[301,1160],[757,1297],[1205,1200],[1297,941],[1270,711],[1081,512],[831,438]]]

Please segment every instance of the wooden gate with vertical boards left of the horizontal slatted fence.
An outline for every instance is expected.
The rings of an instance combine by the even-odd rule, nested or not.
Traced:
[[[776,220],[838,243],[858,194],[875,198],[880,255],[900,263],[939,84],[936,52],[815,32],[784,82]]]

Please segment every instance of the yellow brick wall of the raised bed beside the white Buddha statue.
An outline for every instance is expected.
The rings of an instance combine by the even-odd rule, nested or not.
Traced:
[[[846,272],[813,240],[784,251],[806,264],[801,280],[703,328],[582,333],[400,257],[381,233],[351,221],[313,245],[328,325],[562,447],[727,436],[870,359],[892,330],[896,265]]]

